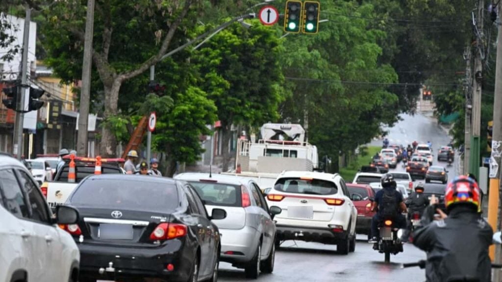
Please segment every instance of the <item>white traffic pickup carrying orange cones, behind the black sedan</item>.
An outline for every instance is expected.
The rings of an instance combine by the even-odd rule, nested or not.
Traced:
[[[70,158],[64,157],[63,160],[66,163],[56,172],[54,180],[44,182],[40,187],[51,209],[64,204],[82,179],[95,174],[96,160],[94,158],[75,157],[75,182],[68,182]],[[120,166],[123,163],[123,159],[101,159],[101,174],[125,174]]]

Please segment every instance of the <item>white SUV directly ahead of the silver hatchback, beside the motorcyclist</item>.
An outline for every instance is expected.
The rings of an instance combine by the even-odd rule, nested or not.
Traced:
[[[267,202],[282,209],[275,217],[276,246],[284,240],[303,240],[336,244],[342,254],[354,251],[357,210],[340,175],[283,172]]]

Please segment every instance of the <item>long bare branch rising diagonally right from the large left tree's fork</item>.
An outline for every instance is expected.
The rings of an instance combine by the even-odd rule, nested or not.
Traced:
[[[131,79],[131,78],[133,78],[135,76],[138,76],[138,75],[142,74],[148,68],[150,68],[152,65],[155,65],[156,63],[158,63],[162,59],[162,56],[164,56],[164,54],[166,54],[167,49],[169,48],[169,45],[171,44],[171,40],[174,37],[174,33],[176,32],[176,30],[178,29],[179,25],[181,24],[181,21],[183,21],[183,19],[185,18],[186,14],[188,13],[188,10],[190,9],[190,6],[192,5],[192,2],[193,2],[193,0],[187,0],[185,2],[185,6],[183,7],[183,10],[181,11],[180,16],[169,27],[169,31],[168,31],[168,33],[166,35],[166,38],[164,38],[164,40],[162,42],[162,46],[161,46],[159,52],[157,52],[157,54],[155,56],[152,56],[150,59],[146,60],[136,70],[120,74],[119,77],[120,77],[120,79],[122,81],[123,80]]]

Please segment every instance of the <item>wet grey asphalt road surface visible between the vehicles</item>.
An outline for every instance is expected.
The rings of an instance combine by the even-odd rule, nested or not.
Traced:
[[[432,142],[434,149],[433,165],[438,163],[437,151],[440,146],[448,144],[450,138],[437,121],[429,114],[415,116],[402,115],[403,120],[389,131],[391,144],[411,144]],[[370,145],[382,146],[382,139],[373,140]],[[457,175],[458,156],[454,165],[448,168],[449,179]],[[401,164],[396,168],[403,171]],[[393,170],[391,170],[393,171]],[[423,180],[419,180],[423,181]],[[417,183],[418,181],[415,181]],[[368,244],[365,235],[358,235],[355,252],[348,255],[336,253],[336,246],[301,241],[285,241],[276,253],[275,270],[272,274],[261,274],[258,281],[406,281],[421,282],[425,280],[424,270],[415,267],[401,269],[404,262],[416,262],[425,258],[425,253],[411,244],[404,245],[404,252],[391,256],[391,263],[384,263],[384,254],[374,251]],[[228,263],[220,263],[219,281],[245,280],[243,269],[232,267]]]

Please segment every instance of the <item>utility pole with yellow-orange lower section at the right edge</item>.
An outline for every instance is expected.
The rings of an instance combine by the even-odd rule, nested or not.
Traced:
[[[498,6],[498,15],[502,12]],[[500,230],[500,219],[502,218],[502,210],[499,206],[500,197],[500,153],[502,150],[502,26],[500,25],[500,17],[497,19],[497,59],[495,65],[495,93],[493,101],[493,134],[491,141],[491,157],[490,157],[490,187],[488,190],[488,223],[493,230]],[[500,263],[500,245],[490,246],[489,251],[491,260],[495,263]],[[494,280],[499,281],[500,271],[494,271]]]

